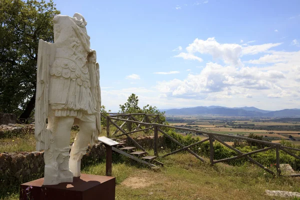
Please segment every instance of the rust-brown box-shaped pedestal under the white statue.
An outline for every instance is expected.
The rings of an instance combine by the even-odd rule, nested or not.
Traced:
[[[20,185],[20,199],[105,199],[113,200],[115,195],[115,177],[81,174],[73,182],[62,182],[57,185],[42,185],[39,178]]]

